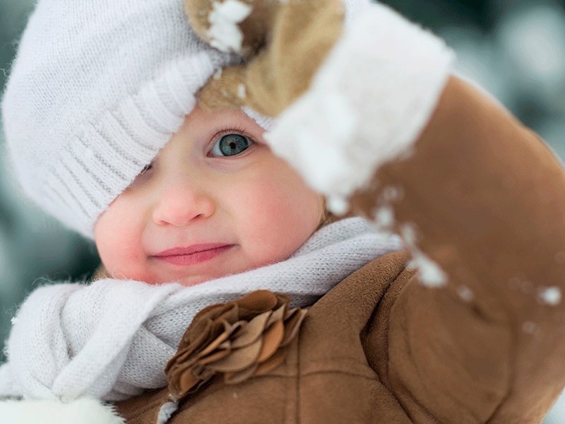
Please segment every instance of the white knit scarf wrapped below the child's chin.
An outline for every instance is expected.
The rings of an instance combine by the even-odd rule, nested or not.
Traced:
[[[163,369],[194,314],[261,288],[316,302],[398,237],[347,218],[312,235],[289,259],[192,287],[105,278],[35,290],[13,320],[0,396],[118,401],[165,387]]]

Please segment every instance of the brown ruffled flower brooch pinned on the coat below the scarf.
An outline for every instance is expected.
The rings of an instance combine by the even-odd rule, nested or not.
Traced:
[[[215,375],[235,384],[283,363],[286,346],[307,314],[290,309],[289,301],[286,295],[258,290],[198,312],[165,367],[172,397],[194,393]]]

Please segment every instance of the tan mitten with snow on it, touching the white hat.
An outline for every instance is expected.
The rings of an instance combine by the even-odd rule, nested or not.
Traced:
[[[204,41],[244,58],[210,78],[201,107],[250,106],[270,117],[307,90],[345,16],[342,0],[185,0],[185,10]]]

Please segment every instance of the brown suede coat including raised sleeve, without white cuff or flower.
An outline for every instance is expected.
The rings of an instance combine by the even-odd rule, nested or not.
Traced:
[[[169,423],[539,423],[565,384],[565,174],[542,141],[451,78],[410,157],[359,193],[403,189],[398,225],[448,276],[428,288],[388,254],[312,305],[283,365],[237,385],[220,380]],[[167,389],[117,404],[155,423]]]

